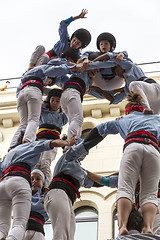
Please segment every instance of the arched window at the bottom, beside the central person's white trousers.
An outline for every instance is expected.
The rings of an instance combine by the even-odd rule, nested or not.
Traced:
[[[93,207],[80,207],[75,210],[76,232],[75,240],[97,240],[98,213]]]

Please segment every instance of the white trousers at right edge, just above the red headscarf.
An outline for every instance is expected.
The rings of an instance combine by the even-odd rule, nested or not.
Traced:
[[[160,85],[158,83],[135,81],[130,83],[129,90],[142,96],[143,108],[152,109],[154,114],[160,113]]]

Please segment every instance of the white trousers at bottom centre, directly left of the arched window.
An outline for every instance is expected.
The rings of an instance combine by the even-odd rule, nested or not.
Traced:
[[[50,190],[44,207],[52,222],[54,240],[74,240],[75,215],[67,194],[61,189]]]

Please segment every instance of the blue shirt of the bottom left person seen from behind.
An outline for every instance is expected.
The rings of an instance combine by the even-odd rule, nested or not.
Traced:
[[[46,141],[33,141],[29,143],[20,144],[12,148],[6,155],[5,159],[1,162],[1,170],[8,168],[11,164],[17,162],[27,163],[31,170],[38,163],[41,153],[51,150],[50,140]]]

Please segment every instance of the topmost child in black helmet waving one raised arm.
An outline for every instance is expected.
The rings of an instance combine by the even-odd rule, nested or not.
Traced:
[[[75,16],[70,17],[66,20],[62,20],[59,26],[59,36],[60,40],[53,46],[53,48],[45,53],[45,48],[41,45],[37,46],[33,52],[29,69],[47,63],[53,57],[60,57],[62,52],[67,48],[74,48],[79,52],[81,48],[85,48],[91,41],[91,34],[88,30],[84,28],[77,29],[71,36],[68,34],[68,26],[71,22],[79,18],[85,18],[85,15],[88,13],[86,9],[83,9],[82,12]],[[29,70],[28,69],[28,70]]]

